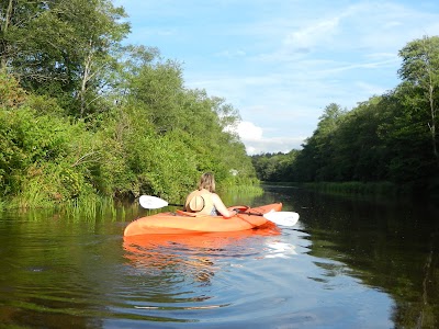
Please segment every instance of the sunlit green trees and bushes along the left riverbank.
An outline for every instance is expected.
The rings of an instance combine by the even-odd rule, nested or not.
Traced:
[[[3,205],[175,202],[204,171],[221,186],[258,181],[230,133],[238,111],[185,88],[181,66],[158,49],[124,46],[128,33],[123,8],[108,0],[1,2]]]

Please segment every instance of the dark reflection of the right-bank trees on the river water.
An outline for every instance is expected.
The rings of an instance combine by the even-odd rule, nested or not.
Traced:
[[[437,204],[278,186],[266,191],[301,214],[309,254],[342,262],[350,276],[392,296],[396,328],[439,328]]]

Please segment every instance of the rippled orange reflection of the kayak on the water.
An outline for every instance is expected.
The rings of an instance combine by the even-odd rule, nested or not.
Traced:
[[[137,275],[160,275],[172,268],[172,272],[209,284],[218,270],[217,259],[249,256],[251,238],[278,235],[280,229],[273,224],[227,234],[143,235],[124,237],[123,249]]]

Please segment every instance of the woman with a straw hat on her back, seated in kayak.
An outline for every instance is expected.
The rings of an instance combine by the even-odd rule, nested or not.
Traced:
[[[219,195],[215,193],[215,177],[212,172],[201,175],[198,190],[191,192],[185,200],[184,209],[212,216],[221,214],[227,218],[238,213],[235,209],[228,209]]]

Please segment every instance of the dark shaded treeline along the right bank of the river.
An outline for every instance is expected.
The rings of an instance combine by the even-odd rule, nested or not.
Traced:
[[[415,39],[398,55],[401,84],[351,111],[327,105],[303,149],[252,157],[258,178],[390,182],[404,192],[438,193],[439,37]]]

